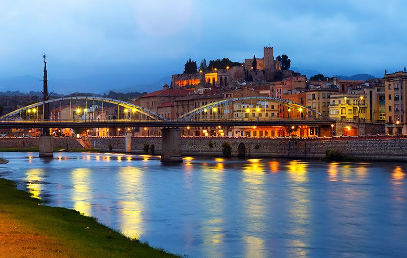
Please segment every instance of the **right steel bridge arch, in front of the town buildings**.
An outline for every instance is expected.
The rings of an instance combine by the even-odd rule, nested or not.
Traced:
[[[307,106],[301,105],[301,104],[299,104],[299,103],[296,103],[296,102],[293,102],[293,101],[287,101],[287,100],[283,100],[283,99],[278,99],[278,98],[261,97],[261,96],[240,97],[240,98],[224,99],[224,100],[221,100],[221,101],[209,103],[209,104],[200,106],[200,107],[198,107],[198,108],[195,108],[194,110],[191,110],[191,111],[189,111],[189,112],[187,112],[187,113],[185,113],[185,114],[179,116],[179,117],[177,118],[177,120],[186,121],[186,120],[190,119],[191,117],[193,117],[194,115],[197,115],[197,114],[199,114],[199,113],[204,112],[204,109],[209,109],[209,108],[212,108],[212,107],[215,107],[215,106],[219,106],[219,105],[223,105],[223,104],[228,104],[228,103],[230,103],[230,102],[244,101],[244,100],[258,100],[258,101],[265,100],[265,101],[271,101],[271,102],[274,102],[274,103],[285,103],[285,104],[287,104],[287,105],[292,105],[292,106],[296,106],[296,107],[298,107],[298,108],[301,107],[301,108],[304,108],[304,109],[306,109],[306,110],[310,110],[311,112],[320,115],[321,117],[325,118],[326,120],[330,120],[330,118],[327,117],[326,115],[323,115],[323,114],[321,114],[320,112],[318,112],[318,111],[316,111],[316,110],[314,110],[314,109],[312,109],[312,108],[309,108],[309,107],[307,107]]]

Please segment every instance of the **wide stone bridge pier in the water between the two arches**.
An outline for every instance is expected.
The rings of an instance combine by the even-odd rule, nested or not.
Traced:
[[[182,162],[181,129],[161,129],[161,162]]]

